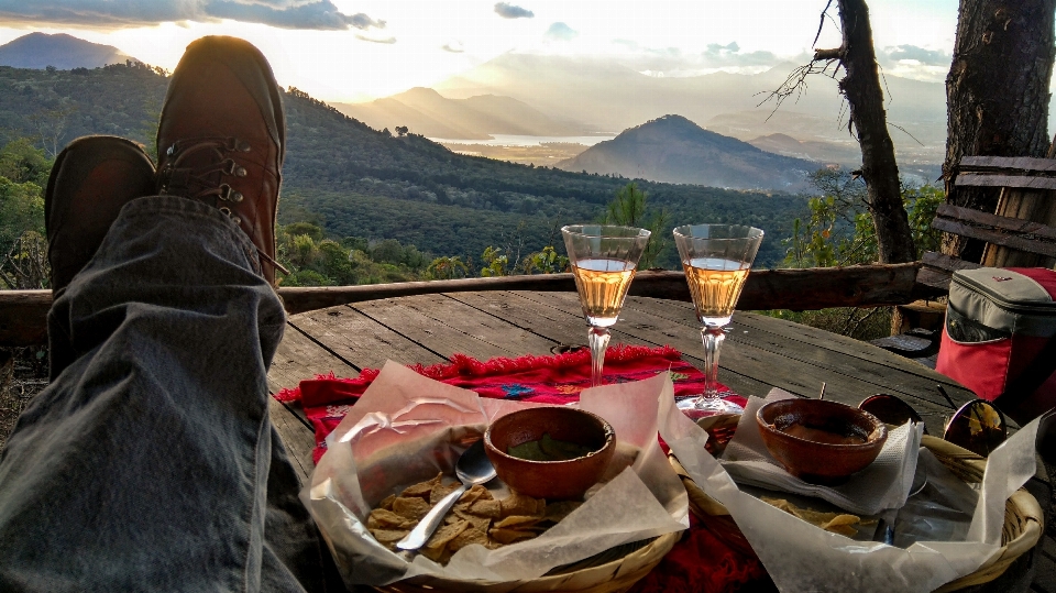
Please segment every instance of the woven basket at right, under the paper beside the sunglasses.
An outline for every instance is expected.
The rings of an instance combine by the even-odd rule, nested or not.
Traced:
[[[923,437],[921,446],[930,449],[943,465],[946,465],[957,477],[960,477],[965,482],[982,481],[982,473],[987,469],[987,460],[985,458],[928,435]],[[721,518],[729,515],[729,512],[726,510],[726,507],[723,506],[722,503],[705,494],[704,491],[690,479],[685,469],[674,459],[674,455],[671,455],[669,459],[675,472],[682,477],[685,491],[690,495],[690,510],[693,514],[702,518]],[[1012,496],[1009,497],[1004,506],[1004,527],[1001,530],[1001,553],[971,574],[966,574],[960,579],[944,584],[937,589],[935,593],[959,591],[969,586],[988,583],[1000,576],[1016,558],[1037,543],[1044,524],[1042,517],[1042,507],[1038,506],[1034,496],[1031,496],[1031,494],[1023,488],[1012,493]]]

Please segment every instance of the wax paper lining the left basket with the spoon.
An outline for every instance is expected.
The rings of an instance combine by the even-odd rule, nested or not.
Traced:
[[[408,562],[380,545],[364,525],[371,508],[438,471],[453,474],[458,455],[491,420],[538,404],[482,398],[388,362],[328,437],[327,453],[301,496],[348,585],[383,585],[425,574],[513,587],[612,547],[689,527],[685,490],[657,441],[658,425],[682,416],[676,409],[659,416],[658,402],[673,398],[667,373],[582,392],[579,407],[616,430],[608,481],[539,537],[497,550],[469,546],[441,567],[422,556]]]

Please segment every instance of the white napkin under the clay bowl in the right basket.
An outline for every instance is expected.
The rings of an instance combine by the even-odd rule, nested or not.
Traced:
[[[790,397],[794,396],[774,388],[766,399],[748,399],[737,432],[719,460],[729,475],[743,484],[816,496],[858,515],[876,515],[884,508],[899,508],[905,504],[913,486],[923,425],[906,422],[889,431],[877,460],[844,484],[809,484],[790,474],[770,455],[756,421],[756,411],[763,404]]]

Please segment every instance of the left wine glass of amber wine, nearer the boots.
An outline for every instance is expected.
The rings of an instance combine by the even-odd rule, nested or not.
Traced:
[[[591,386],[596,387],[602,384],[608,328],[619,317],[650,232],[632,227],[572,224],[563,227],[561,234],[569,250],[583,316],[591,325],[586,337],[591,347]]]

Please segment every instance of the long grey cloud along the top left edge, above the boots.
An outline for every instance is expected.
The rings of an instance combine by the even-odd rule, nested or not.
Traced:
[[[344,14],[330,0],[0,0],[0,22],[86,26],[144,26],[230,19],[280,29],[384,29],[385,21]]]

